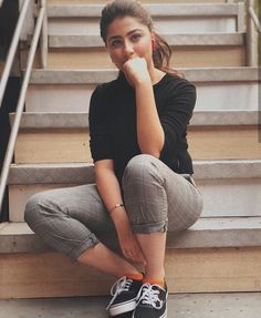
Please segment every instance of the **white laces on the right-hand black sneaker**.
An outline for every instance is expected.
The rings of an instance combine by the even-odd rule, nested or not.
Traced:
[[[140,288],[137,298],[139,298],[138,302],[146,304],[153,306],[155,309],[161,309],[164,301],[158,298],[159,290],[153,289],[154,286],[150,284],[144,284]],[[160,288],[157,286],[157,288]]]

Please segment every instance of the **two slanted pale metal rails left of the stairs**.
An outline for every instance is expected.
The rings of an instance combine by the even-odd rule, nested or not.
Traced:
[[[14,44],[15,44],[15,42],[18,43],[18,40],[20,38],[21,29],[22,29],[22,22],[24,21],[24,17],[25,17],[25,13],[27,13],[27,9],[28,9],[29,2],[30,2],[30,0],[24,0],[24,2],[23,2],[22,11],[20,13],[20,19],[19,19],[19,22],[17,24],[17,30],[15,30],[15,34],[14,34],[15,39],[13,39],[13,41],[12,41]],[[21,18],[21,14],[22,14],[22,18]],[[23,79],[21,92],[20,92],[20,95],[19,95],[17,112],[15,112],[15,116],[14,116],[14,121],[13,121],[13,125],[12,125],[9,143],[8,143],[8,148],[7,148],[7,152],[6,152],[3,166],[2,166],[2,171],[1,171],[1,178],[0,178],[0,213],[1,213],[3,196],[4,196],[4,192],[6,192],[6,186],[7,186],[7,182],[8,182],[9,171],[10,171],[10,166],[11,166],[11,162],[12,162],[14,145],[15,145],[15,141],[17,141],[17,136],[18,136],[18,132],[19,132],[21,117],[22,117],[23,105],[24,105],[24,101],[25,101],[25,94],[27,94],[29,80],[30,80],[31,72],[32,72],[33,60],[34,60],[34,57],[35,57],[36,47],[38,47],[38,42],[39,42],[39,39],[40,39],[41,29],[42,29],[42,24],[43,24],[45,14],[46,14],[45,1],[41,1],[40,11],[39,11],[38,20],[36,20],[36,25],[35,25],[35,29],[34,29],[32,43],[31,43],[31,48],[30,48],[30,51],[29,51],[28,64],[27,64],[25,73],[24,73],[24,79]],[[12,51],[11,51],[11,49],[10,49],[11,52],[9,51],[10,54],[11,53],[13,54],[13,52],[15,53],[15,50],[17,50],[17,47],[14,47],[13,43],[11,44]],[[13,60],[13,57],[11,57],[10,60],[11,59]],[[9,61],[9,63],[11,63],[11,62]],[[10,68],[9,69],[9,73],[10,73],[11,66],[8,65],[8,68]],[[7,73],[7,71],[6,71],[6,73]],[[4,79],[2,79],[2,80],[4,80]],[[1,84],[2,84],[2,81],[1,81]],[[4,85],[2,84],[2,86],[4,86]]]

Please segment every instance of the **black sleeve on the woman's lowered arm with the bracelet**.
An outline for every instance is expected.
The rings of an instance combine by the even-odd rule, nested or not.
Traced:
[[[105,100],[105,86],[98,85],[92,94],[88,112],[90,148],[94,162],[113,158]]]

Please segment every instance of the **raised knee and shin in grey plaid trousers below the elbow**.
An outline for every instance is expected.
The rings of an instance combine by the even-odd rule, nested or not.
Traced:
[[[132,158],[125,170],[123,191],[133,225],[165,224],[167,197],[156,157],[138,155]]]

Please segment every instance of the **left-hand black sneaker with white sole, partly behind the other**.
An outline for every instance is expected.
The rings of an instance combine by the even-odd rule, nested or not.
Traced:
[[[137,295],[142,286],[142,280],[130,279],[126,276],[119,278],[111,289],[113,298],[107,306],[109,316],[133,311],[136,308]]]

